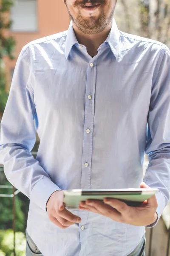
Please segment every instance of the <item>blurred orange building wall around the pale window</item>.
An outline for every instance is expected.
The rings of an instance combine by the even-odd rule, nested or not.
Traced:
[[[15,67],[17,57],[24,45],[37,38],[52,35],[68,29],[70,17],[62,0],[37,0],[37,32],[9,32],[16,40],[14,61],[6,61],[8,91],[11,84],[11,69]]]

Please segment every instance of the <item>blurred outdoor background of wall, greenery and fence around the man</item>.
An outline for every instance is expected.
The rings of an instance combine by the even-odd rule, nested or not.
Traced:
[[[170,48],[170,0],[118,0],[114,17],[119,30],[161,41]],[[67,30],[69,23],[62,0],[0,0],[0,120],[22,47]],[[38,146],[37,136],[34,157]],[[144,172],[147,164],[145,156]],[[0,256],[25,256],[28,206],[28,198],[6,180],[0,164]],[[146,236],[146,256],[170,256],[169,205],[156,227],[147,228]]]

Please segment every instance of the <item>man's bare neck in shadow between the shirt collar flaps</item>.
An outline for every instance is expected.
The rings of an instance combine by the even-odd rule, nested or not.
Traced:
[[[111,31],[112,22],[100,33],[88,35],[84,34],[73,22],[73,29],[79,44],[85,45],[88,54],[93,58],[97,54],[97,49],[105,42]]]

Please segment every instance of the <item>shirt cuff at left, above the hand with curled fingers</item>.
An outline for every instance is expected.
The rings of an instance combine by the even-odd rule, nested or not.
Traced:
[[[54,182],[48,178],[42,178],[33,187],[30,201],[37,204],[46,212],[46,204],[50,196],[57,190],[61,190]]]

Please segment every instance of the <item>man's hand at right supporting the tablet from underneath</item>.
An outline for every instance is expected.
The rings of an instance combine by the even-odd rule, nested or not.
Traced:
[[[144,182],[141,183],[140,187],[149,188]],[[111,218],[113,221],[133,226],[148,226],[153,224],[158,218],[156,213],[157,207],[156,195],[153,195],[140,207],[130,207],[125,202],[112,198],[105,198],[103,202],[88,199],[79,205],[79,209],[81,210],[95,212]]]

